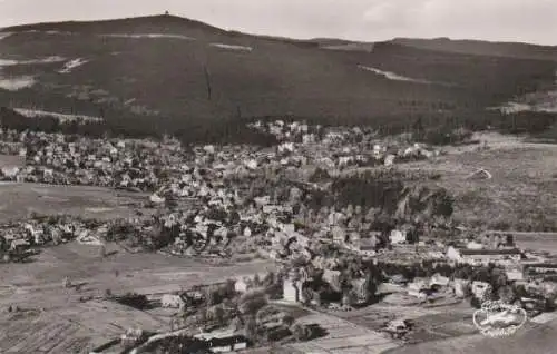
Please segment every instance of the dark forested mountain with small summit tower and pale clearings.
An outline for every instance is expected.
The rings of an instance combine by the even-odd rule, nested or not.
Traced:
[[[12,35],[0,39],[0,106],[102,116],[123,131],[206,134],[223,121],[285,116],[390,132],[420,117],[485,126],[495,119],[487,107],[554,85],[556,71],[537,58],[292,40],[174,16],[3,30]]]

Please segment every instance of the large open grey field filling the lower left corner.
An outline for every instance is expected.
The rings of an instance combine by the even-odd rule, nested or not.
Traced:
[[[266,262],[215,267],[159,254],[127,254],[117,245],[107,249],[113,255],[100,259],[96,247],[70,243],[47,248],[32,263],[1,265],[0,325],[9,331],[2,331],[0,353],[82,353],[77,348],[106,343],[129,327],[169,328],[168,316],[101,299],[82,303],[81,296],[101,298],[107,289],[156,296],[274,268]],[[63,288],[66,276],[79,289]],[[10,305],[21,312],[10,316]]]

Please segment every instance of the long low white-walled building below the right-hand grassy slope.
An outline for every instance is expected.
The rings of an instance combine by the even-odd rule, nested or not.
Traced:
[[[467,249],[450,246],[447,258],[453,262],[468,264],[516,263],[520,262],[522,253],[518,248],[511,249]]]

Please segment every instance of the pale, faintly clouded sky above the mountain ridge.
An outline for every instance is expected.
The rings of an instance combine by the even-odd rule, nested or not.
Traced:
[[[256,35],[557,46],[557,0],[0,0],[0,27],[164,13]]]

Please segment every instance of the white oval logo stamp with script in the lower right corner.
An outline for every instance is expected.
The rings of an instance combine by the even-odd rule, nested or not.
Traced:
[[[473,313],[472,321],[481,334],[489,337],[505,337],[514,335],[528,321],[528,315],[519,306],[488,301]]]

